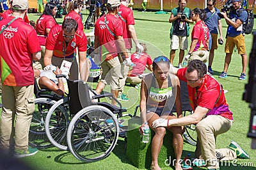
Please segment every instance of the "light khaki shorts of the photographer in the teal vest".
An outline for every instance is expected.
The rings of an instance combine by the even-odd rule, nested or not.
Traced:
[[[188,50],[188,37],[187,36],[177,36],[173,35],[171,40],[170,48],[172,50]]]

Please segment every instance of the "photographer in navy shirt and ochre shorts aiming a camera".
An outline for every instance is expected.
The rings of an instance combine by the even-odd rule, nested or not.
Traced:
[[[226,6],[228,5],[226,4]],[[229,15],[227,15],[227,10],[225,9],[230,10]],[[227,29],[227,40],[225,44],[226,57],[225,57],[224,69],[223,69],[223,72],[221,72],[219,77],[220,78],[227,77],[228,65],[230,64],[232,52],[236,45],[238,54],[240,54],[242,57],[242,67],[243,67],[239,80],[244,80],[246,79],[247,55],[246,55],[246,47],[245,47],[244,34],[243,34],[243,22],[246,21],[248,14],[242,8],[241,0],[233,0],[232,6],[230,6],[230,8],[224,8],[224,10],[221,10],[220,16],[226,20],[228,24],[228,29]]]

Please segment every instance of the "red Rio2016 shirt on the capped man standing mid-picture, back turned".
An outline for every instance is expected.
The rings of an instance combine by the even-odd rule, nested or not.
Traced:
[[[112,31],[112,33],[115,36],[113,36],[108,30],[108,28],[106,27],[105,17],[106,17],[106,21],[108,23],[108,27],[110,31]],[[115,58],[117,56],[117,53],[120,52],[118,48],[118,43],[115,42],[116,40],[115,37],[123,35],[121,20],[118,19],[116,15],[111,15],[111,14],[103,15],[95,23],[94,35],[98,36],[100,46],[104,44],[103,46],[104,48],[102,47],[102,54],[106,52],[111,54],[106,57],[106,60]]]

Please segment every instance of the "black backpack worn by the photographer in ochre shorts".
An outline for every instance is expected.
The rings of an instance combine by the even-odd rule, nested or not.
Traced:
[[[247,19],[243,22],[243,33],[245,33],[246,35],[250,35],[250,33],[252,33],[252,29],[253,29],[253,24],[254,24],[254,15],[253,15],[253,10],[250,9],[241,9],[238,12],[238,16],[241,15],[241,12],[246,11],[247,12]]]

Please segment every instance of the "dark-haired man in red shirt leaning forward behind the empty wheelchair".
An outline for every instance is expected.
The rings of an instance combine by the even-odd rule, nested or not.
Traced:
[[[77,27],[78,24],[74,19],[65,19],[62,26],[52,27],[45,43],[44,70],[51,70],[52,65],[58,66],[62,73],[69,72],[70,79],[79,79],[80,73],[81,79],[86,82],[90,74],[91,62],[90,59],[86,59],[87,38]],[[66,70],[66,73],[63,70]]]

